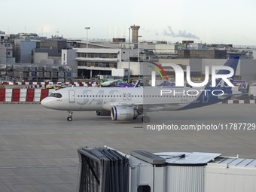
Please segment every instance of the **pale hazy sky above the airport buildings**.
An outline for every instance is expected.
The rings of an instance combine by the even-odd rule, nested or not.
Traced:
[[[1,0],[0,30],[90,40],[191,40],[208,44],[256,45],[255,0]]]

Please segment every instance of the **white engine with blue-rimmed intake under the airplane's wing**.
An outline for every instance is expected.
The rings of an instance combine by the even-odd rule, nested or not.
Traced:
[[[114,106],[111,108],[112,120],[133,120],[138,115],[138,112],[131,107]]]

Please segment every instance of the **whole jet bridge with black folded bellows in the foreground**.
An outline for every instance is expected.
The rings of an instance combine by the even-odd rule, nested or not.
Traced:
[[[78,191],[230,192],[255,191],[256,160],[200,152],[80,148]],[[226,182],[227,181],[227,182]],[[246,190],[242,190],[246,189]]]

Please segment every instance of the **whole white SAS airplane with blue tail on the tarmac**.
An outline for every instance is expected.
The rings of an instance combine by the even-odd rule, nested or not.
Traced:
[[[234,70],[229,78],[233,84],[239,56],[230,56],[224,66]],[[220,69],[217,75],[227,75]],[[211,80],[212,81],[212,80]],[[41,101],[46,108],[68,111],[72,121],[73,111],[96,111],[99,116],[111,116],[112,120],[133,120],[142,114],[142,122],[148,123],[151,111],[175,111],[200,108],[231,99],[241,94],[231,90],[223,79],[211,81],[205,87],[68,87],[56,90]]]

